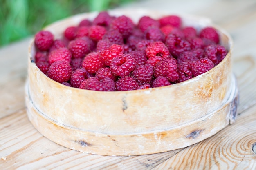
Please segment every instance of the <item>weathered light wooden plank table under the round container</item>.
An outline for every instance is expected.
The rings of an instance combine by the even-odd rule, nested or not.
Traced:
[[[112,157],[64,148],[29,122],[24,101],[30,38],[0,49],[0,170],[256,169],[256,1],[148,0],[148,7],[212,18],[234,40],[233,71],[240,101],[236,122],[192,146],[153,155]]]

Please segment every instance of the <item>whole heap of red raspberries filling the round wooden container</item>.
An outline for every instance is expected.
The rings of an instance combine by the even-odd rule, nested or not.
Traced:
[[[227,54],[213,27],[182,27],[176,15],[159,19],[100,12],[94,20],[69,26],[63,38],[35,35],[34,56],[49,78],[74,88],[128,91],[168,86],[196,77]]]

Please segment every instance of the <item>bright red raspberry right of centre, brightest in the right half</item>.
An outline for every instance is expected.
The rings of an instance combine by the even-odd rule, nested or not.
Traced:
[[[147,46],[145,53],[146,53],[146,57],[148,57],[148,58],[150,58],[150,57],[166,58],[166,57],[170,56],[167,46],[165,46],[165,44],[160,41],[150,43]]]

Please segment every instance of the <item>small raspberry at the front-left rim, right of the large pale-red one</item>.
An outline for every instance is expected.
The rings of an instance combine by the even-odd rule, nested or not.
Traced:
[[[78,68],[72,72],[70,77],[70,84],[72,87],[79,88],[81,82],[85,79],[86,72],[87,71],[84,68]]]

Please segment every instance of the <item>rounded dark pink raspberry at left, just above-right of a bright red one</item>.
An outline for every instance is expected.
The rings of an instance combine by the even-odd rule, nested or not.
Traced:
[[[90,51],[90,44],[83,38],[77,38],[68,44],[73,58],[83,58]]]

